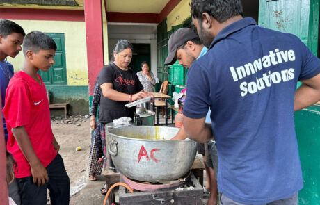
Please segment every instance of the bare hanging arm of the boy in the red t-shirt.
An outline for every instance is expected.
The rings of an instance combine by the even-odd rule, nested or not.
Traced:
[[[48,183],[49,177],[47,170],[40,163],[38,156],[35,154],[24,126],[17,126],[11,129],[11,131],[13,132],[13,136],[15,136],[15,140],[17,140],[22,154],[24,154],[24,157],[26,157],[26,160],[29,162],[33,183],[37,183],[38,186]]]

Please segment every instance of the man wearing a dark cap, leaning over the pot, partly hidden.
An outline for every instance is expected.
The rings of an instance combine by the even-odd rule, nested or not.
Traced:
[[[179,60],[179,65],[186,68],[191,67],[193,61],[205,55],[207,52],[207,47],[200,42],[198,35],[195,33],[195,29],[193,30],[191,28],[179,28],[175,31],[175,33],[173,33],[169,38],[168,49],[169,54],[166,58],[165,64],[172,65],[175,61]],[[208,116],[210,116],[210,111]],[[211,123],[210,117],[207,118],[208,122],[206,122]],[[182,126],[172,140],[184,140],[185,138],[186,134],[184,133],[184,126]],[[213,141],[209,141],[205,144],[197,143],[197,147],[198,153],[203,156],[207,173],[207,188],[204,188],[204,190],[211,191],[207,204],[216,204],[216,197],[218,194],[217,181],[215,177],[215,174],[217,176],[218,170],[216,146]]]

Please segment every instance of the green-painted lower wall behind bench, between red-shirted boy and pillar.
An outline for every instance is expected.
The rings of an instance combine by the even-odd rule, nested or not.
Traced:
[[[46,85],[50,95],[50,104],[68,102],[70,115],[89,114],[88,86],[52,86]],[[51,115],[63,115],[63,109],[52,109]]]

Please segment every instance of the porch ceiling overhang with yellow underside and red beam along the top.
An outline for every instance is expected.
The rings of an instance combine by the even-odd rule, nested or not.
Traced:
[[[52,3],[51,0],[10,0],[13,3],[6,3],[7,1],[9,0],[3,0],[0,3],[1,18],[84,21],[84,0],[57,0],[55,3]],[[23,4],[25,1],[30,1],[30,3]],[[102,1],[104,1],[108,23],[159,24],[181,0],[152,0],[154,6],[150,4],[150,0]],[[122,4],[119,6],[117,1],[121,1]],[[113,5],[118,6],[118,8],[108,8],[110,2],[113,2]],[[128,2],[131,2],[131,4]],[[136,6],[132,3],[140,4]]]

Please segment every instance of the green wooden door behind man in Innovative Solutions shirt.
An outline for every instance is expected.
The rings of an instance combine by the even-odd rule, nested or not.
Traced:
[[[259,24],[297,35],[317,56],[319,0],[260,0]],[[320,205],[319,114],[320,106],[314,105],[294,115],[304,179],[304,188],[299,192],[300,205]]]

